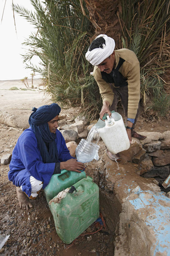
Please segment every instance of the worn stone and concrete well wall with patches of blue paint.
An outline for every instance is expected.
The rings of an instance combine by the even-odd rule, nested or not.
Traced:
[[[170,199],[155,178],[141,177],[169,175],[170,131],[146,135],[143,141],[132,140],[130,148],[120,153],[119,163],[106,153],[94,161],[100,211],[115,235],[113,255],[170,255]]]

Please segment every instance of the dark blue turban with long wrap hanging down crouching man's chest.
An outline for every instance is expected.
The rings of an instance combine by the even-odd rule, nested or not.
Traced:
[[[58,151],[56,147],[56,133],[51,133],[48,122],[59,115],[61,108],[58,104],[44,105],[33,108],[29,117],[29,125],[36,135],[38,148],[44,163],[57,163]],[[49,151],[46,143],[49,143]]]

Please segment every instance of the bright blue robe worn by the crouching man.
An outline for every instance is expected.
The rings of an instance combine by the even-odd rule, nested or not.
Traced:
[[[71,158],[61,132],[56,130],[56,144],[58,150],[58,162],[65,162]],[[22,186],[28,197],[31,195],[30,176],[43,182],[45,188],[54,172],[55,163],[43,163],[37,140],[32,128],[26,129],[18,138],[12,152],[9,164],[8,178],[17,187]]]

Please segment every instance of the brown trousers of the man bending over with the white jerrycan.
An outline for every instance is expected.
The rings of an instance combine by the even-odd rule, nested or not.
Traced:
[[[111,85],[111,87],[112,87],[112,90],[114,92],[114,99],[113,99],[113,103],[110,106],[109,110],[110,111],[114,110],[116,112],[119,98],[121,98],[122,106],[123,106],[123,109],[124,109],[125,124],[127,125],[127,118],[128,118],[128,86],[113,87]],[[139,116],[139,104],[138,104],[138,110],[137,110],[137,113],[136,113],[134,124],[132,126],[133,128],[135,127],[138,116]]]

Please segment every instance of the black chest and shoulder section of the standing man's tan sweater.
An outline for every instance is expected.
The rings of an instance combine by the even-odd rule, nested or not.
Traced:
[[[124,78],[123,75],[119,72],[119,68],[124,63],[124,59],[119,58],[119,63],[115,69],[111,71],[111,73],[107,74],[106,72],[101,72],[101,76],[106,81],[106,83],[114,83],[115,87],[124,87],[128,85],[126,81],[127,78]]]

